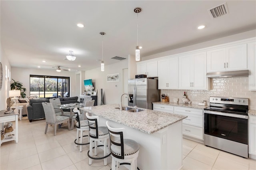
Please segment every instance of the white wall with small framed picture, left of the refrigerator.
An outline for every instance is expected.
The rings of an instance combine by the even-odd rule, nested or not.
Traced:
[[[99,65],[100,66],[100,65]],[[128,68],[128,60],[120,61],[115,64],[105,65],[105,71],[100,71],[100,67],[85,72],[85,79],[92,79],[95,88],[98,89],[98,105],[100,105],[100,89],[103,89],[103,103],[120,103],[120,96],[123,93],[123,69]],[[107,75],[119,73],[120,81],[107,83]]]

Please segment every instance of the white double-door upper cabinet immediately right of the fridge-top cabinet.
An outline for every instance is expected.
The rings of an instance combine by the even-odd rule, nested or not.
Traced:
[[[178,89],[178,57],[158,61],[158,89]]]

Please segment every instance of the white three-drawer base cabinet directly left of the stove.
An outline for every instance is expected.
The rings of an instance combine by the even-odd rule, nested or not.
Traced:
[[[174,107],[174,113],[188,116],[182,120],[182,134],[191,139],[204,140],[204,111],[187,107]]]

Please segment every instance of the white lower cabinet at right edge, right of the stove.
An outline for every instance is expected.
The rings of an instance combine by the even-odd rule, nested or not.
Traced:
[[[256,116],[249,116],[249,157],[256,159]]]

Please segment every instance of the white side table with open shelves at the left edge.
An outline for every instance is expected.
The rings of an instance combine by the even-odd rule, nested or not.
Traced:
[[[16,143],[18,143],[18,114],[17,113],[9,113],[9,114],[5,114],[6,110],[3,110],[3,111],[0,111],[0,129],[2,130],[2,124],[6,123],[6,122],[12,122],[12,121],[15,121],[15,129],[12,131],[12,132],[9,132],[9,133],[12,133],[12,134],[15,134],[14,137],[12,138],[8,138],[8,139],[3,139],[1,140],[0,142],[0,146],[3,142],[8,142],[8,141],[11,141],[11,140],[15,140]],[[6,133],[8,134],[8,133]],[[6,134],[4,135],[4,137],[6,136]]]

